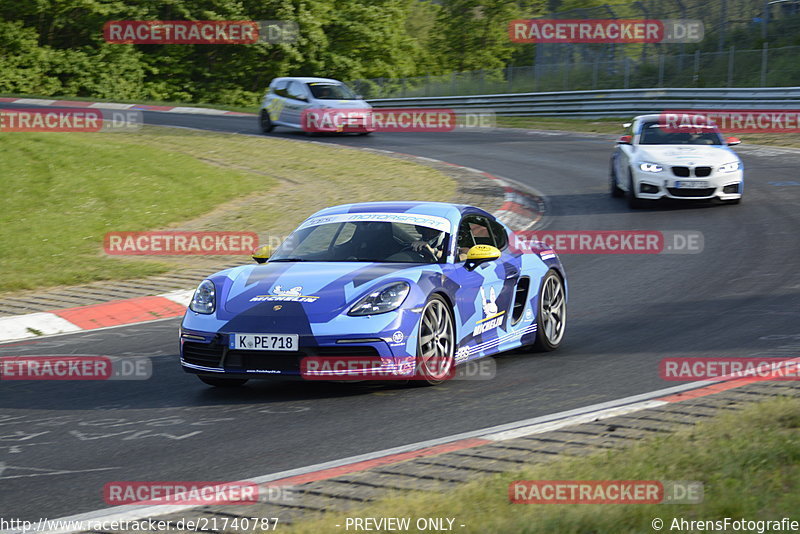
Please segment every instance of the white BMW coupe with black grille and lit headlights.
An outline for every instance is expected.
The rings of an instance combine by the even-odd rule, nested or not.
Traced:
[[[670,130],[657,114],[640,115],[624,126],[626,135],[611,157],[612,196],[627,196],[632,208],[661,198],[741,201],[744,167],[729,148],[739,139],[723,138],[714,126]]]

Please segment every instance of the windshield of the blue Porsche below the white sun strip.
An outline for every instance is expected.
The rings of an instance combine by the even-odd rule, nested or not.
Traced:
[[[394,222],[332,222],[301,227],[270,257],[279,261],[441,263],[449,234]]]

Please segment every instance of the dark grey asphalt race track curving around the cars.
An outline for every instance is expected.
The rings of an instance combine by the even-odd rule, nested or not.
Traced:
[[[150,124],[258,133],[252,117],[144,116]],[[103,508],[110,481],[237,480],[614,400],[675,385],[659,378],[662,358],[777,355],[785,340],[800,338],[800,186],[785,185],[796,179],[800,154],[743,145],[741,205],[631,211],[607,192],[609,139],[500,129],[313,138],[534,186],[547,199],[547,230],[693,230],[705,248],[563,255],[570,302],[562,348],[497,357],[497,375],[487,381],[214,390],[178,365],[179,319],[0,344],[0,356],[143,355],[154,364],[152,379],[139,382],[3,382],[0,517]]]

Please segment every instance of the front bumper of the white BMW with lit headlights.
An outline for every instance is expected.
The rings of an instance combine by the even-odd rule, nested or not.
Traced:
[[[686,187],[698,183],[704,187]],[[682,177],[673,175],[670,167],[665,167],[663,171],[657,173],[635,170],[633,185],[636,188],[636,196],[642,199],[734,200],[742,197],[744,172],[741,170],[728,173],[713,172],[703,177]]]

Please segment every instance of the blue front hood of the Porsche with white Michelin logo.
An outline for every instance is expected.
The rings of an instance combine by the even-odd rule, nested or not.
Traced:
[[[212,277],[218,309],[229,315],[263,314],[280,305],[309,318],[345,313],[367,291],[396,280],[415,283],[434,265],[361,262],[275,262],[231,269]]]

